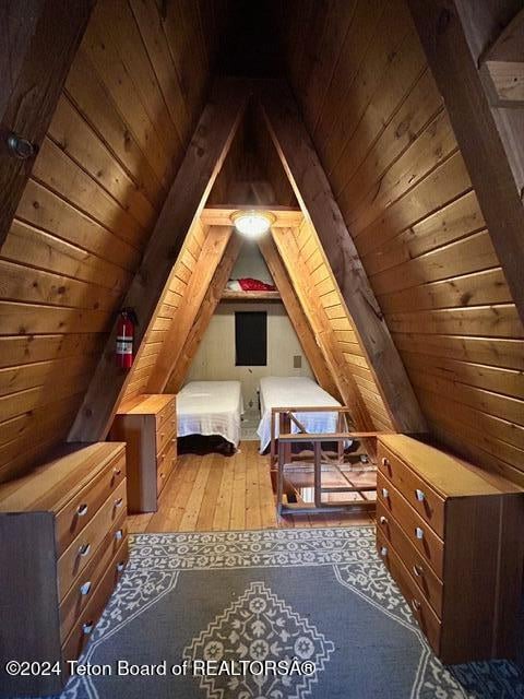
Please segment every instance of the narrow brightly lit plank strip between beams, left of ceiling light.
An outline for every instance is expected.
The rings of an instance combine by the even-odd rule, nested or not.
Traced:
[[[155,317],[150,323],[143,348],[131,369],[130,381],[122,399],[124,401],[145,392],[167,331],[174,319],[176,322],[177,310],[183,304],[183,296],[200,257],[205,234],[206,230],[200,221],[195,221],[188,232],[180,254],[172,268],[167,288],[158,304]]]

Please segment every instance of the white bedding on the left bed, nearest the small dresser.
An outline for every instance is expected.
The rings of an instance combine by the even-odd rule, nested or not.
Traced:
[[[178,437],[221,435],[238,447],[242,413],[240,381],[190,381],[177,395]]]

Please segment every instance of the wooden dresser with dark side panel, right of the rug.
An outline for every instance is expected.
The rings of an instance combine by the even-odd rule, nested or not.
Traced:
[[[514,654],[524,493],[404,435],[379,438],[377,548],[443,663]]]

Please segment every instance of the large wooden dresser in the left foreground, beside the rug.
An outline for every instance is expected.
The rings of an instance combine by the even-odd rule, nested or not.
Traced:
[[[58,694],[126,566],[126,449],[69,445],[0,486],[0,667],[61,663],[61,674],[9,677],[0,695]]]

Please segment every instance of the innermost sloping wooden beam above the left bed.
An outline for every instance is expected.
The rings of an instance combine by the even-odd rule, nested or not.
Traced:
[[[147,393],[163,393],[182,354],[213,275],[226,250],[233,227],[211,226],[189,280],[183,304],[172,317],[147,382]]]

